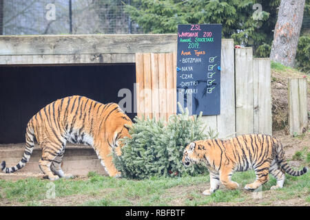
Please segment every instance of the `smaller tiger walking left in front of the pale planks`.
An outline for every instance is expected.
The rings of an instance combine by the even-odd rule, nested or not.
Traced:
[[[282,188],[285,173],[300,176],[307,173],[308,168],[293,170],[285,162],[282,144],[271,135],[247,134],[238,135],[228,140],[210,139],[189,143],[183,152],[183,165],[203,163],[210,175],[210,188],[203,195],[211,195],[218,190],[220,183],[231,190],[239,187],[231,181],[235,171],[254,169],[256,180],[245,186],[246,190],[256,190],[269,181],[269,173],[276,177],[276,186],[271,190]]]

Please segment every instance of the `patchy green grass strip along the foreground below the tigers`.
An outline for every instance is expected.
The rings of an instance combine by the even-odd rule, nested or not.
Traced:
[[[205,196],[201,192],[209,188],[209,175],[151,177],[136,181],[90,173],[87,179],[54,181],[56,198],[48,200],[47,192],[52,185],[46,179],[1,180],[0,202],[9,201],[22,206],[50,206],[55,203],[74,206],[203,206],[218,203],[270,206],[276,201],[298,199],[309,203],[308,173],[301,177],[287,175],[285,187],[278,190],[269,190],[276,184],[273,177],[262,186],[260,192],[244,190],[245,184],[251,183],[255,178],[253,171],[234,173],[232,180],[240,184],[237,190],[221,186],[213,195]],[[259,199],[256,199],[257,196]]]

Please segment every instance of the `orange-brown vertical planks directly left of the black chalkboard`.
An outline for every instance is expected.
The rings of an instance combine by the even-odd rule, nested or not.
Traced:
[[[176,53],[136,54],[136,83],[138,117],[176,113]]]

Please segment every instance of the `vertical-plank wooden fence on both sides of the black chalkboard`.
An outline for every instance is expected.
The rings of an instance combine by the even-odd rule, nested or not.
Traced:
[[[269,58],[253,58],[252,48],[234,49],[223,39],[220,115],[203,116],[218,137],[245,133],[271,134]],[[138,117],[163,118],[176,113],[176,53],[136,54]]]

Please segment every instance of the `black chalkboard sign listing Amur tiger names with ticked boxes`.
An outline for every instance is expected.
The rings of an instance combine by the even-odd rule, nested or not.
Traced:
[[[220,114],[221,41],[220,24],[178,25],[177,100],[191,115]]]

